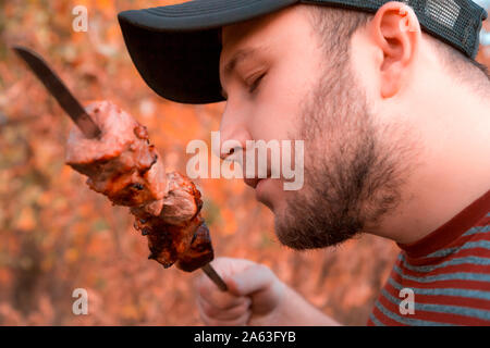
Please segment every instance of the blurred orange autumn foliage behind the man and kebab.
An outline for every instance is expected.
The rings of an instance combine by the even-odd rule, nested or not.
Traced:
[[[185,173],[189,140],[210,147],[223,104],[181,105],[156,96],[126,53],[123,10],[183,1],[0,0],[0,325],[200,325],[193,279],[148,261],[127,209],[112,207],[64,164],[71,121],[8,49],[42,54],[79,100],[108,99],[150,133],[167,171]],[[490,1],[479,0],[490,7]],[[88,9],[75,33],[73,8]],[[490,32],[490,23],[485,23]],[[490,45],[490,35],[482,37]],[[490,66],[490,47],[478,60]],[[293,252],[273,235],[271,213],[243,181],[196,181],[217,256],[269,265],[342,323],[364,325],[397,254],[363,236],[341,247]],[[88,315],[72,313],[72,293],[88,291]]]

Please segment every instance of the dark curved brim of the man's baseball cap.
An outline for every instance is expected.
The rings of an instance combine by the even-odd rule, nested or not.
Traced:
[[[223,101],[219,79],[221,28],[298,0],[194,0],[121,12],[130,55],[148,86],[182,103]]]

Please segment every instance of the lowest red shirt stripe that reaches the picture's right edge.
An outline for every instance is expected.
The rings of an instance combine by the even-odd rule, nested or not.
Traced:
[[[400,314],[400,309],[397,304],[392,303],[382,294],[379,299],[380,303],[384,308],[391,311],[393,314],[399,316],[404,316],[407,319],[425,320],[436,323],[453,324],[453,325],[475,325],[475,326],[488,326],[490,321],[481,320],[474,316],[460,315],[454,313],[441,313],[441,312],[429,312],[422,310],[415,310],[415,314],[402,315]]]

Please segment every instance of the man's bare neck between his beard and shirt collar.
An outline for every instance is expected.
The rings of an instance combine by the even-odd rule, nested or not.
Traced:
[[[445,86],[421,90],[412,99],[420,108],[406,109],[416,111],[411,120],[421,151],[401,203],[372,234],[413,244],[490,189],[489,99],[454,83]]]

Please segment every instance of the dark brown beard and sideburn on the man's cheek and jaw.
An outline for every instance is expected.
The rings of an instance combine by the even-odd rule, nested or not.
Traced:
[[[297,250],[339,245],[393,211],[412,151],[393,139],[400,128],[375,126],[347,62],[327,71],[341,73],[324,73],[302,105],[304,188],[287,192],[274,221],[280,243]]]

